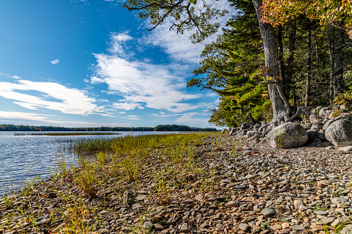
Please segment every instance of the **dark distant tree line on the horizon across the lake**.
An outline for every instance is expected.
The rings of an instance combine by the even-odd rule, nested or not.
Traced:
[[[132,131],[132,132],[147,132],[147,131],[216,131],[216,128],[194,128],[185,125],[158,125],[156,127],[98,127],[98,128],[65,128],[56,126],[29,126],[15,124],[0,124],[0,131]]]

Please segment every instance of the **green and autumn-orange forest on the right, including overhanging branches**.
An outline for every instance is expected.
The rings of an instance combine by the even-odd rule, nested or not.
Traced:
[[[205,46],[187,82],[220,95],[210,123],[235,127],[265,120],[277,126],[297,117],[299,106],[351,110],[351,1],[228,2],[237,13]],[[205,1],[130,0],[124,7],[151,19],[154,28],[168,17],[177,33],[196,30],[195,43],[220,30],[213,19],[227,15]]]

